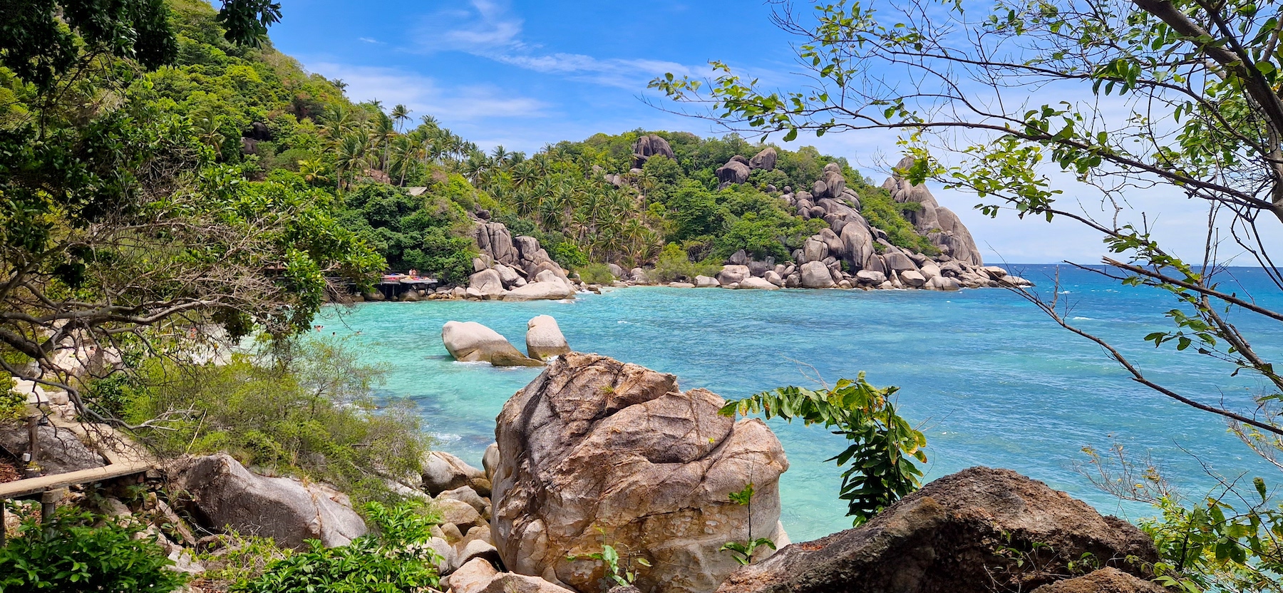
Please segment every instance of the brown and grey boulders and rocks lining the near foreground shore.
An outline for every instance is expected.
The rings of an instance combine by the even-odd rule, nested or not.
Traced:
[[[430,452],[416,475],[385,476],[440,517],[423,543],[440,590],[1165,590],[1150,580],[1157,552],[1139,529],[988,467],[926,484],[860,528],[790,544],[779,493],[789,462],[765,422],[720,415],[721,397],[681,391],[672,375],[570,352],[545,316],[529,329],[531,358],[549,365],[504,404],[481,468]],[[457,340],[448,347],[463,352]],[[62,471],[110,462],[101,440],[64,440],[47,453],[69,461]],[[308,539],[346,546],[371,529],[335,488],[257,474],[227,454],[157,467],[141,484],[115,480],[94,499],[64,492],[62,503],[146,525],[171,570],[195,578],[191,593],[222,590],[200,575],[236,562],[245,546],[236,533],[304,549]],[[748,504],[735,498],[744,492]],[[753,537],[777,551],[742,566],[725,544]]]

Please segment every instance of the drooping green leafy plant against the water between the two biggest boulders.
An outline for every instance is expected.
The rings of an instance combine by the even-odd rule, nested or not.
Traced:
[[[851,440],[828,461],[839,467],[853,462],[842,474],[840,498],[848,502],[847,516],[860,525],[921,485],[922,471],[912,460],[926,462],[926,436],[896,413],[890,397],[898,389],[875,388],[861,372],[854,381],[842,379],[833,389],[789,386],[731,400],[721,413],[802,418],[807,426],[821,424]]]

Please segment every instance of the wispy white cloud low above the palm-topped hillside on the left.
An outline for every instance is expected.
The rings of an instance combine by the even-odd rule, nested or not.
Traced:
[[[400,103],[417,116],[431,113],[443,122],[547,116],[544,101],[491,86],[446,89],[434,78],[413,72],[326,62],[308,64],[308,69],[327,78],[341,78],[348,83],[348,96],[357,101],[378,99],[385,105]]]

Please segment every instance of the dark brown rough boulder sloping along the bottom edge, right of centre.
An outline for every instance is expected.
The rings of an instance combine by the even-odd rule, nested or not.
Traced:
[[[1011,470],[971,467],[861,528],[745,566],[717,592],[1033,590],[1073,574],[1067,563],[1080,565],[1087,553],[1142,578],[1143,566],[1159,560],[1153,542],[1121,519]]]

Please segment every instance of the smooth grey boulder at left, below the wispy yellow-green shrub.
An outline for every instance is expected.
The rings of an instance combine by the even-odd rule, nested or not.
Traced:
[[[366,522],[346,494],[253,474],[225,453],[180,458],[167,472],[171,485],[190,497],[192,517],[208,529],[273,538],[295,549],[305,548],[305,539],[335,547],[366,534]]]

